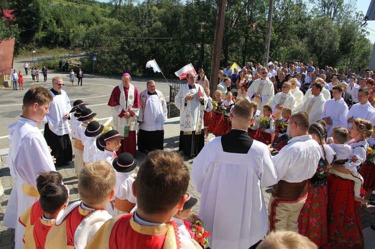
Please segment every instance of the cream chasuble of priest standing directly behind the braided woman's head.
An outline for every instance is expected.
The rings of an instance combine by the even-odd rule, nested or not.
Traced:
[[[306,102],[301,104],[299,108],[294,109],[296,111],[306,112],[308,114],[308,120],[310,124],[318,121],[321,118],[321,113],[323,112],[325,99],[323,95],[320,93],[315,100],[313,100],[313,96],[309,97]]]

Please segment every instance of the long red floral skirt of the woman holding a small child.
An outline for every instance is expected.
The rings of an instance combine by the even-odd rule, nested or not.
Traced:
[[[363,248],[359,202],[354,201],[354,184],[328,174],[327,227],[329,242],[323,248]]]

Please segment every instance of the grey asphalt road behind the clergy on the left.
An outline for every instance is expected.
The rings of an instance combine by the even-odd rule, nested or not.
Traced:
[[[13,69],[16,69],[17,73],[19,70],[21,70],[24,74],[24,61],[28,61],[29,63],[30,58],[14,60]],[[28,75],[23,75],[23,87],[25,90],[15,91],[12,88],[0,90],[0,139],[6,138],[9,133],[7,127],[16,122],[18,116],[21,114],[22,98],[26,90],[34,85],[41,85],[50,89],[52,87],[51,80],[54,76],[62,77],[65,84],[62,89],[66,91],[71,104],[75,100],[81,99],[87,104],[88,108],[97,113],[96,118],[104,119],[111,117],[110,107],[107,106],[107,103],[112,89],[121,83],[121,75],[98,76],[85,74],[83,86],[71,86],[68,73],[50,71],[46,82],[42,82],[43,75],[41,73],[39,73],[39,82],[32,82],[31,74],[28,73]],[[133,78],[131,83],[135,85],[140,92],[146,88],[146,82],[150,79],[152,78]],[[154,80],[156,82],[156,89],[160,90],[164,94],[166,101],[169,101],[169,86],[166,81],[161,79]],[[76,79],[74,84],[77,82],[78,81]],[[178,79],[168,79],[168,82],[172,83],[183,81]],[[43,127],[40,126],[39,128],[42,129]]]

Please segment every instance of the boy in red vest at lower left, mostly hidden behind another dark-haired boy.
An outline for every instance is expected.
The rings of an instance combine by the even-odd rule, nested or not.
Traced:
[[[49,183],[62,184],[62,175],[56,171],[41,172],[36,178],[36,190],[38,193],[40,194],[41,190]],[[19,223],[25,227],[25,235],[28,234],[29,231],[32,231],[35,222],[42,214],[43,210],[40,207],[40,203],[36,201],[18,218]]]

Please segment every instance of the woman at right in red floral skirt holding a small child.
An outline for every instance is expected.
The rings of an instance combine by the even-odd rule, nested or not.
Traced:
[[[363,161],[366,157],[367,142],[372,134],[372,124],[361,118],[354,119],[349,129],[353,139],[347,142],[353,148],[351,161]],[[343,165],[332,164],[336,171],[350,174]],[[359,169],[358,169],[359,170]],[[354,184],[349,179],[328,174],[328,247],[363,248],[364,240],[360,224],[360,203],[354,201]]]

